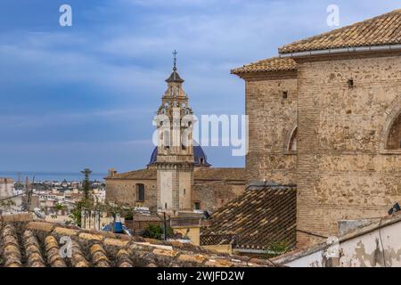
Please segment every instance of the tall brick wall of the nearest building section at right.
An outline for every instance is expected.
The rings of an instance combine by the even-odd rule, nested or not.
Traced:
[[[381,143],[400,96],[400,56],[299,62],[299,229],[335,235],[338,220],[385,216],[401,201],[401,152]]]

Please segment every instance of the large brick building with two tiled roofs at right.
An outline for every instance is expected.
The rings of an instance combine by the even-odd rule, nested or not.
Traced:
[[[297,184],[302,246],[401,200],[401,10],[279,53],[232,72],[246,84],[247,182]]]

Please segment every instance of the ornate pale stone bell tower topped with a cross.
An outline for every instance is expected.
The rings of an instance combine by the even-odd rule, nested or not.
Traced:
[[[168,89],[161,100],[158,127],[158,208],[167,212],[192,210],[193,182],[193,112],[182,79],[174,67],[166,79]]]

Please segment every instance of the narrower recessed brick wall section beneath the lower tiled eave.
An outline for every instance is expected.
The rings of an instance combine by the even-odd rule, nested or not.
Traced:
[[[283,72],[246,79],[248,183],[264,179],[275,183],[295,182],[297,156],[288,147],[297,126],[296,76],[295,72]]]

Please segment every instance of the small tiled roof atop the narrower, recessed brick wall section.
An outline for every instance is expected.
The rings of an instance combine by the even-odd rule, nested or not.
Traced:
[[[282,71],[282,70],[296,70],[297,63],[289,58],[273,57],[270,59],[256,61],[241,68],[231,70],[232,74],[240,75],[250,72],[263,72],[263,71]]]

